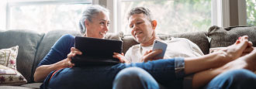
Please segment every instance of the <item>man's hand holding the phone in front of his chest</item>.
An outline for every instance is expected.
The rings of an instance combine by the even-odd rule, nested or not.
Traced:
[[[146,53],[144,53],[144,56],[142,56],[141,62],[147,62],[148,60],[159,60],[163,59],[161,57],[155,57],[158,54],[162,53],[162,50],[147,50]]]

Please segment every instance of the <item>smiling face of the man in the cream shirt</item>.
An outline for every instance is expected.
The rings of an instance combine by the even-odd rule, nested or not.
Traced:
[[[147,43],[153,37],[152,24],[143,13],[131,15],[129,25],[131,34],[138,43]]]

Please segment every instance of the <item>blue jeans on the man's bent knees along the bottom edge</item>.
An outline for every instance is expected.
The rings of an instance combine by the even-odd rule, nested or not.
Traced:
[[[165,88],[157,84],[147,71],[137,67],[121,70],[113,83],[113,89],[159,89]],[[172,86],[168,88],[181,88]],[[206,89],[256,89],[256,75],[249,70],[230,70],[213,78]]]

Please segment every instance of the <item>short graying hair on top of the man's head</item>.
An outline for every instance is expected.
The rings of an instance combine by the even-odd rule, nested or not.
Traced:
[[[130,16],[134,15],[134,14],[141,14],[143,13],[144,15],[147,16],[147,19],[149,21],[152,20],[152,17],[151,17],[151,12],[149,9],[146,9],[144,7],[137,7],[137,8],[134,8],[134,9],[131,9],[130,12],[128,13],[128,17],[127,19],[129,20]]]

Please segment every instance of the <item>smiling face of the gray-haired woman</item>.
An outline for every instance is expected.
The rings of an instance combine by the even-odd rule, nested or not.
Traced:
[[[109,15],[99,12],[92,16],[92,22],[85,21],[86,36],[103,39],[109,31]]]

